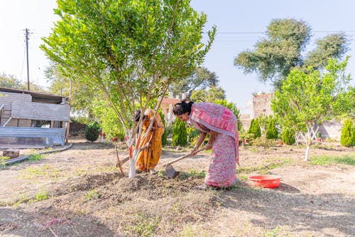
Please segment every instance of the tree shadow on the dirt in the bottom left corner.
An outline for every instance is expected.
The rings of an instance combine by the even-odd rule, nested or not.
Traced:
[[[114,231],[89,215],[66,211],[61,214],[54,206],[33,211],[0,207],[0,235],[9,236],[114,236]]]

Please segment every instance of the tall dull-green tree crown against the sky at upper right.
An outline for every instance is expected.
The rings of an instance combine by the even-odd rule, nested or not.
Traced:
[[[349,40],[344,33],[334,33],[320,38],[317,47],[302,55],[312,32],[304,21],[295,19],[273,19],[266,30],[266,38],[256,43],[253,50],[239,53],[234,65],[244,73],[258,73],[262,82],[270,81],[280,88],[282,80],[293,68],[305,70],[312,65],[324,68],[329,58],[340,59],[348,50]]]

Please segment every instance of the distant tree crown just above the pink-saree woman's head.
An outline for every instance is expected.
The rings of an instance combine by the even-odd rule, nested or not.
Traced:
[[[196,68],[187,78],[182,78],[170,85],[169,91],[174,95],[187,93],[190,98],[192,92],[217,87],[219,83],[216,73],[210,72],[207,68]]]

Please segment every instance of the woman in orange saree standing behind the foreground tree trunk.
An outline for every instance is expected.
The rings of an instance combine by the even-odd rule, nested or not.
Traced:
[[[155,117],[154,117],[155,115]],[[136,111],[136,122],[141,117],[141,110]],[[148,131],[149,125],[153,123],[151,130]],[[142,132],[139,140],[138,149],[144,148],[138,154],[136,161],[136,172],[150,172],[156,174],[155,166],[158,164],[161,155],[161,137],[164,133],[164,124],[160,115],[154,110],[147,109],[144,111],[142,120]]]

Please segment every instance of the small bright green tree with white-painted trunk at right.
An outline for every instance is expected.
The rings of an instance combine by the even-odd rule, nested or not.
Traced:
[[[311,68],[309,73],[294,69],[275,91],[271,108],[283,129],[294,130],[305,140],[306,161],[319,125],[354,107],[351,88],[347,88],[351,78],[344,73],[346,63],[347,59],[329,60],[323,74]]]

